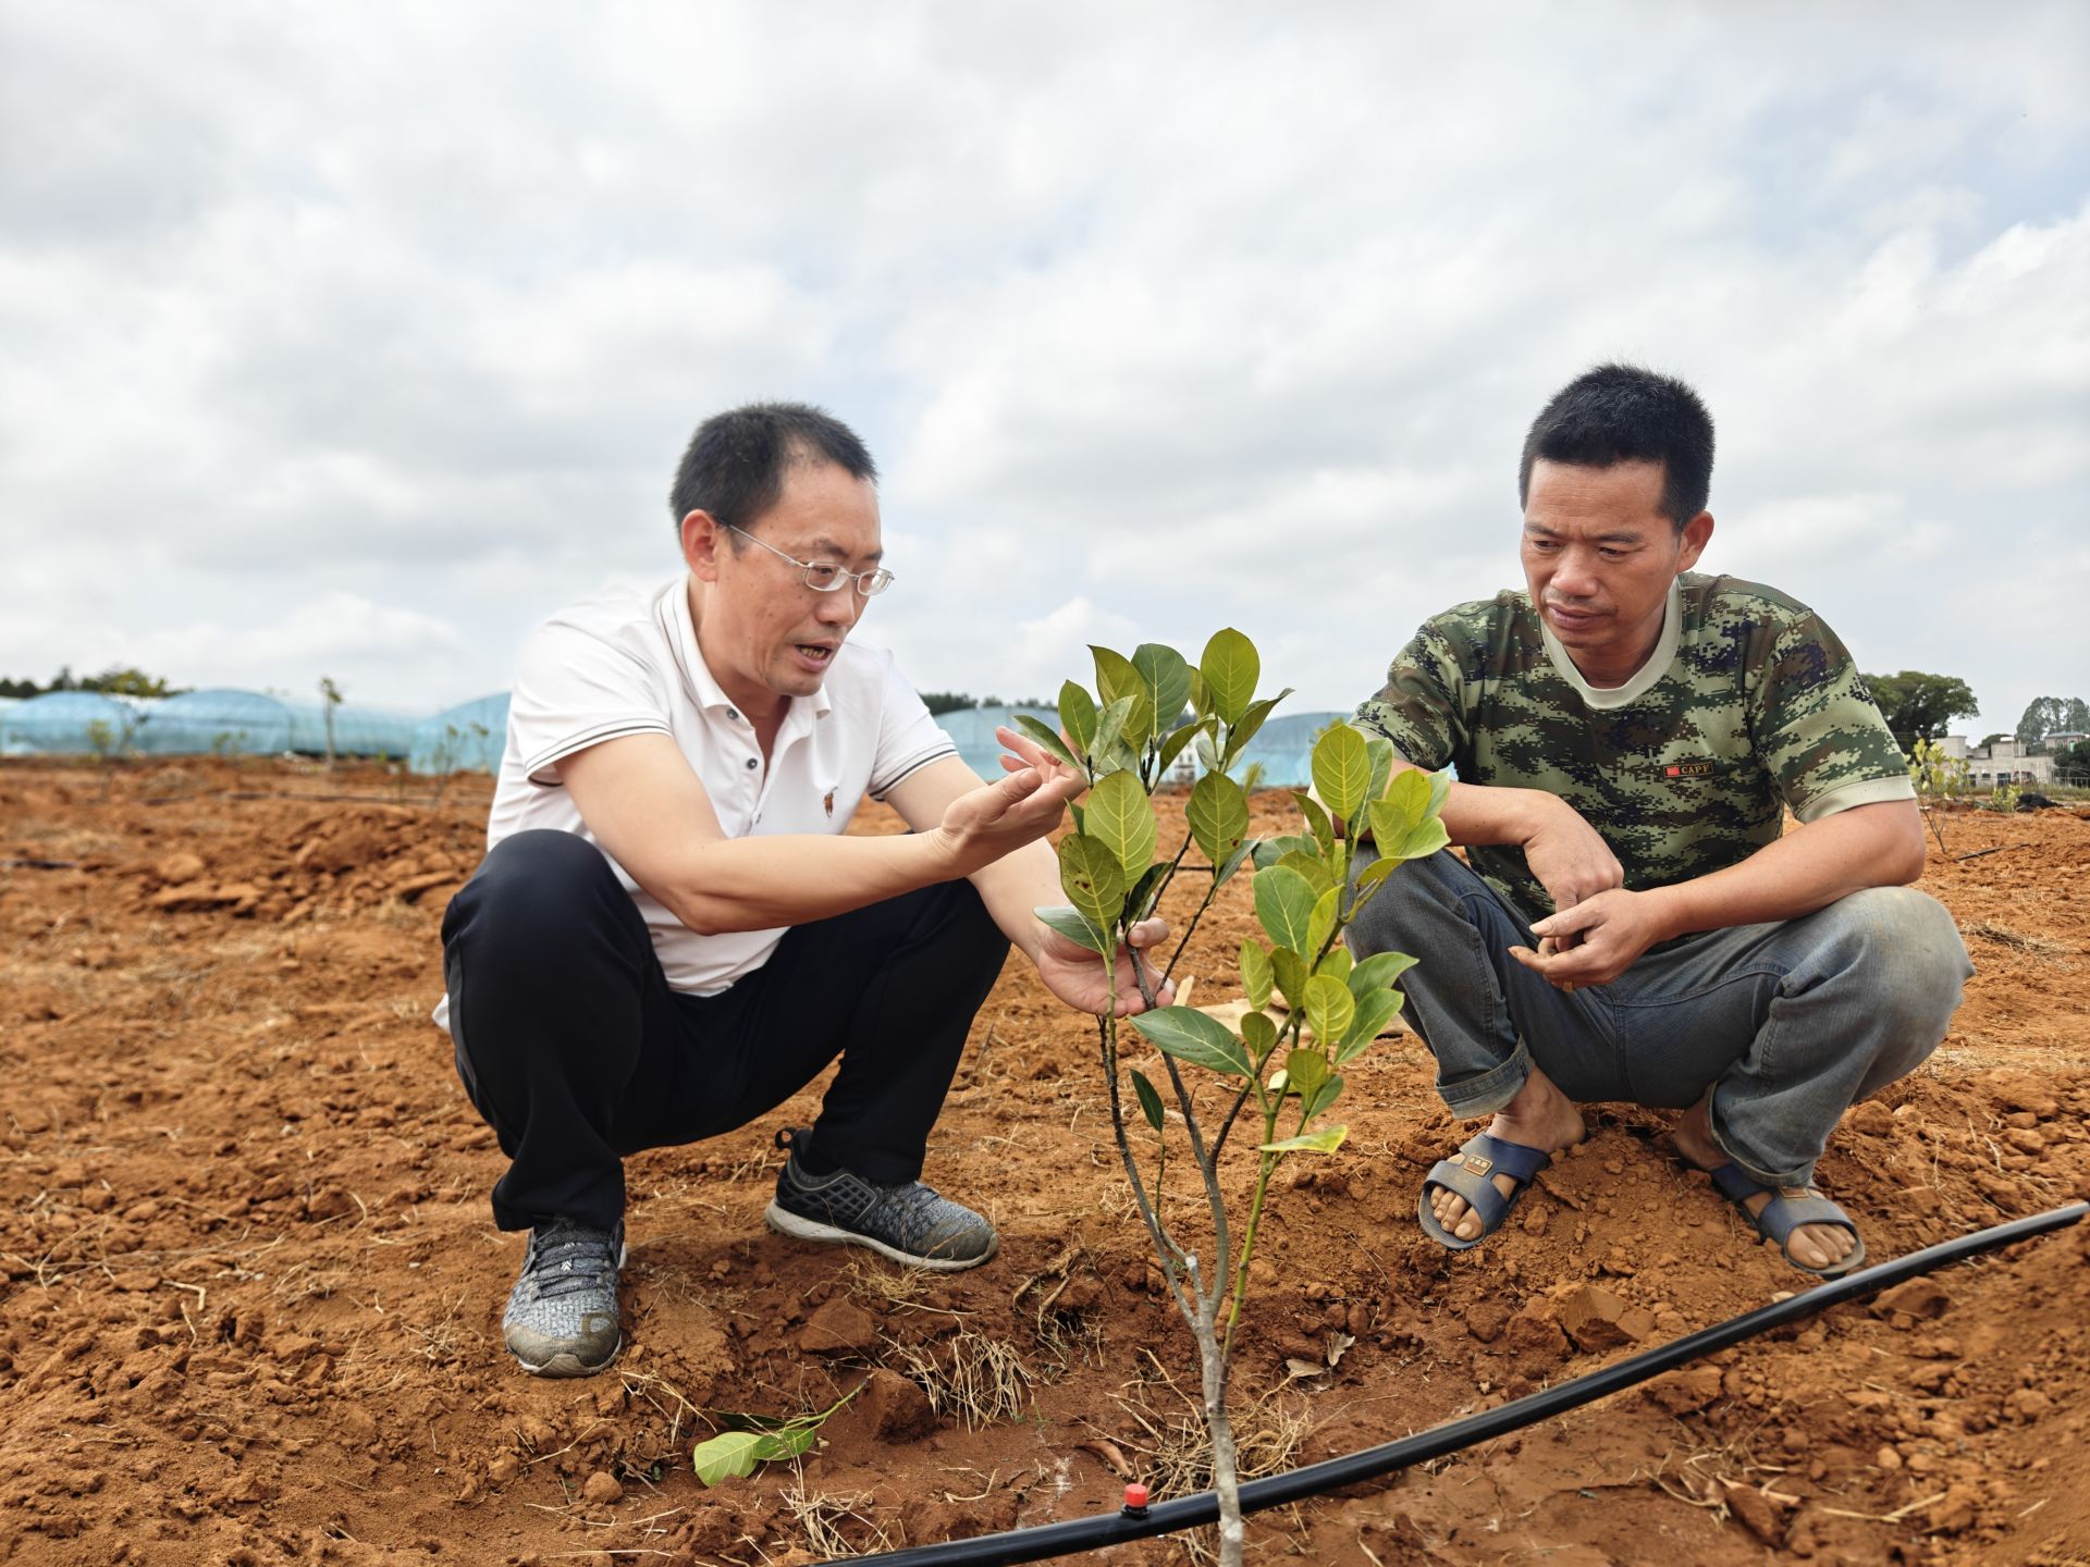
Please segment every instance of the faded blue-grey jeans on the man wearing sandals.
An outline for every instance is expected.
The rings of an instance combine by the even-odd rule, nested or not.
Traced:
[[[1530,923],[1448,850],[1386,878],[1348,946],[1419,959],[1407,1018],[1455,1116],[1501,1109],[1534,1063],[1576,1101],[1680,1109],[1712,1091],[1714,1141],[1770,1187],[1812,1183],[1843,1112],[1937,1049],[1973,976],[1952,915],[1889,886],[1687,936],[1563,995],[1509,957],[1538,946]]]

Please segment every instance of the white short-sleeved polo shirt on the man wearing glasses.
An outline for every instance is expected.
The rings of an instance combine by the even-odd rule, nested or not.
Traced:
[[[686,589],[683,577],[654,591],[612,587],[537,627],[516,671],[487,848],[531,827],[596,842],[554,763],[619,735],[669,735],[727,838],[840,834],[865,794],[882,800],[909,773],[957,754],[892,654],[844,641],[819,694],[792,698],[765,765],[754,725],[696,650]],[[784,928],[698,936],[623,865],[610,869],[646,917],[675,990],[717,995],[784,940]]]

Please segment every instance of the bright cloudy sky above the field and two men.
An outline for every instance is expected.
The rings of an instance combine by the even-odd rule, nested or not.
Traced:
[[[0,673],[431,710],[677,570],[704,414],[886,470],[922,687],[1218,625],[1346,708],[1601,357],[1705,568],[2090,696],[2090,8],[0,0]]]

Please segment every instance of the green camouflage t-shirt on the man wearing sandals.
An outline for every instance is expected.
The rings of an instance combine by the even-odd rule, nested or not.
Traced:
[[[1685,572],[1662,641],[1620,687],[1590,687],[1530,595],[1505,589],[1427,621],[1358,706],[1417,767],[1557,794],[1634,890],[1735,865],[1799,821],[1914,788],[1837,635],[1760,583]],[[1513,844],[1467,857],[1530,917],[1553,901]]]

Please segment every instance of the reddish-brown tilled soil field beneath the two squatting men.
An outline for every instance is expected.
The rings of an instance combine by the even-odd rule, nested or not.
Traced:
[[[1260,796],[1258,829],[1287,813]],[[995,1216],[993,1264],[920,1279],[769,1235],[769,1139],[811,1116],[800,1097],[635,1157],[627,1352],[589,1381],[518,1375],[500,1155],[428,1024],[483,817],[483,781],[433,800],[374,769],[0,767],[0,1561],[817,1561],[1185,1475],[1189,1343],[1108,1147],[1095,1030],[1020,961],[928,1170]],[[1933,852],[1925,878],[1979,978],[1929,1068],[1856,1107],[1820,1172],[1875,1260],[2090,1195],[2090,821],[1946,832],[1996,850]],[[1185,959],[1200,1003],[1233,995],[1246,882]],[[1363,1057],[1340,1120],[1348,1145],[1287,1166],[1267,1226],[1235,1373],[1256,1467],[1806,1283],[1676,1166],[1659,1116],[1599,1107],[1515,1222],[1459,1256],[1415,1229],[1421,1174],[1459,1139],[1413,1036]],[[1254,1519],[1250,1546],[1379,1567],[2082,1563],[2086,1352],[2080,1226]],[[719,1412],[859,1387],[796,1467],[717,1490],[690,1473]]]

